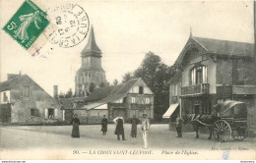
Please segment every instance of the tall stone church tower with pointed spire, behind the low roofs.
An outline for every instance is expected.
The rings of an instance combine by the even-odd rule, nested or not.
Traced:
[[[99,87],[106,82],[105,72],[101,67],[101,50],[96,45],[94,27],[91,27],[88,43],[81,52],[82,65],[76,75],[76,96],[87,96],[90,85]]]

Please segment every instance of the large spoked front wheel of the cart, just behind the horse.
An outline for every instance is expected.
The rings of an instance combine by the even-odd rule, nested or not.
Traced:
[[[221,142],[226,141],[231,136],[231,128],[224,120],[219,120],[214,123],[213,136]]]

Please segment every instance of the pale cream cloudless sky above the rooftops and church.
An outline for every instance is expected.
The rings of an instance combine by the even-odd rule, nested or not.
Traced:
[[[16,13],[23,1],[2,0],[1,28]],[[68,1],[43,1],[45,9]],[[254,42],[252,1],[72,1],[88,14],[94,26],[96,44],[102,51],[102,68],[106,80],[122,81],[127,72],[136,70],[145,53],[152,51],[171,66],[186,41],[190,30],[194,36]],[[1,81],[7,74],[29,75],[49,94],[53,85],[59,91],[74,90],[76,71],[81,66],[80,44],[61,48],[46,42],[40,56],[21,47],[1,29]]]

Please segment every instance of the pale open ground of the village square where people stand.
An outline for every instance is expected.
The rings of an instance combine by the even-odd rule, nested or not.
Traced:
[[[1,126],[1,151],[10,150],[36,150],[40,149],[64,149],[79,150],[91,149],[133,149],[142,150],[143,140],[140,126],[138,136],[130,136],[130,125],[125,124],[126,140],[118,141],[113,135],[115,125],[108,125],[106,136],[102,136],[99,125],[80,126],[80,138],[72,138],[72,126]],[[207,139],[208,135],[200,135],[195,138],[195,133],[183,133],[182,138],[175,137],[176,133],[168,131],[168,125],[152,125],[149,133],[149,149],[160,150],[168,154],[169,149],[193,149],[193,150],[241,150],[255,151],[255,137],[248,137],[243,141],[230,139],[228,142],[217,142],[215,139]],[[74,154],[74,153],[73,153]]]

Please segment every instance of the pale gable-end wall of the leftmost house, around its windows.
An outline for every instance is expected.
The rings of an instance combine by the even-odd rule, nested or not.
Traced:
[[[31,91],[29,97],[21,96],[23,86],[29,86]],[[19,84],[12,87],[11,91],[11,123],[52,123],[62,121],[61,106],[37,84],[29,78],[23,78]],[[45,109],[55,109],[54,118],[48,120]],[[34,116],[31,116],[34,109]]]

